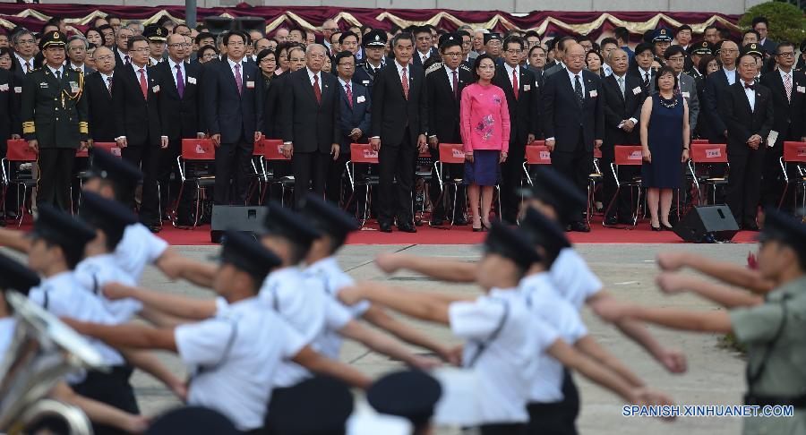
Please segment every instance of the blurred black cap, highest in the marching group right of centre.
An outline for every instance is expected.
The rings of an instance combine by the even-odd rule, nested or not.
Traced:
[[[552,206],[557,219],[564,223],[574,210],[582,209],[587,204],[585,194],[570,183],[568,178],[553,167],[539,166],[533,177],[531,188],[522,189],[524,198],[534,198]]]

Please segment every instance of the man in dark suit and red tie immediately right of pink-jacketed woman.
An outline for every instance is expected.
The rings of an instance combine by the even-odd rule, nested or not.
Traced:
[[[507,96],[510,110],[510,149],[501,165],[502,219],[516,222],[520,207],[518,190],[523,178],[526,146],[540,132],[540,90],[535,73],[520,65],[526,43],[522,38],[509,37],[503,42],[503,64],[496,68],[493,85]],[[591,158],[593,162],[593,158]]]

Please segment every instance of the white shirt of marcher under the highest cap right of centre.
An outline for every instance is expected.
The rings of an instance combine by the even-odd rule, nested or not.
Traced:
[[[578,311],[587,298],[602,290],[602,281],[573,248],[563,248],[552,269],[554,288]]]

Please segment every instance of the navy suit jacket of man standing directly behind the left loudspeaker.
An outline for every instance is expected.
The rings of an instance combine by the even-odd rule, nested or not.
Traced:
[[[254,64],[241,63],[242,93],[227,59],[203,68],[204,124],[210,135],[220,134],[221,143],[253,142],[254,132],[263,131],[263,79]]]

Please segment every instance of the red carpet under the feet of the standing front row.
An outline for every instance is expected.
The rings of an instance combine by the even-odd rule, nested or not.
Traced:
[[[193,230],[176,229],[165,226],[159,236],[176,245],[198,245],[210,243],[210,226],[199,226]],[[484,233],[474,233],[470,226],[454,226],[451,229],[417,227],[416,234],[381,233],[378,226],[368,225],[364,230],[351,235],[348,244],[475,244],[484,240]],[[639,224],[636,229],[604,228],[593,226],[590,233],[569,233],[573,243],[683,243],[672,232],[653,232],[648,223]],[[733,237],[733,243],[752,243],[757,233],[742,231]]]

